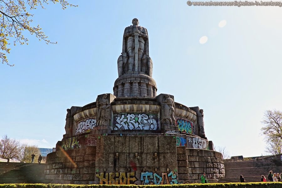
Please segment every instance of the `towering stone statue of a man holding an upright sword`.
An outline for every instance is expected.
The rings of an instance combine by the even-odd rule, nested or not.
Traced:
[[[147,29],[139,26],[137,18],[123,33],[122,55],[118,58],[118,76],[127,73],[146,74],[152,77],[153,61],[149,57]]]

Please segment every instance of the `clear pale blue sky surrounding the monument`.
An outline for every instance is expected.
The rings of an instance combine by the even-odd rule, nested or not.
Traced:
[[[33,25],[58,44],[26,34],[29,45],[11,45],[8,59],[15,66],[0,65],[0,136],[55,147],[65,133],[67,108],[113,93],[124,28],[138,18],[148,29],[157,94],[204,109],[207,138],[231,156],[266,154],[264,111],[282,110],[281,7],[70,2],[79,6],[50,4],[31,12]],[[222,20],[226,25],[219,27]]]

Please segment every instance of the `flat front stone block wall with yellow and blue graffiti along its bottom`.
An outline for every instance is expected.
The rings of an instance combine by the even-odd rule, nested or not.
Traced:
[[[169,184],[177,183],[175,138],[101,137],[97,141],[96,172],[95,182],[99,184],[146,185],[167,184],[167,181]]]

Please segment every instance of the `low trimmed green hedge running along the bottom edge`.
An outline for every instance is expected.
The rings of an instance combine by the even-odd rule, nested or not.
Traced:
[[[0,184],[0,188],[282,188],[282,182],[206,183],[174,185],[73,185],[73,184]]]

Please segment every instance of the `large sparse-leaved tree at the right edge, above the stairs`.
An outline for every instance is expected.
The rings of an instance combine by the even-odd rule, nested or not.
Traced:
[[[261,128],[267,143],[266,152],[275,154],[282,153],[282,112],[279,110],[267,110],[262,121]]]

